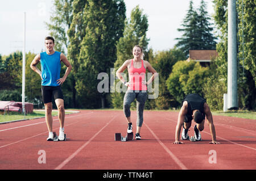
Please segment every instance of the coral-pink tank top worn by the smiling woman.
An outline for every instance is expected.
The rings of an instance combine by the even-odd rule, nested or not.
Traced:
[[[143,60],[141,60],[141,68],[136,69],[133,66],[133,59],[131,60],[131,67],[129,68],[129,82],[128,90],[147,90],[147,85],[142,84],[145,79],[146,69],[144,68]]]

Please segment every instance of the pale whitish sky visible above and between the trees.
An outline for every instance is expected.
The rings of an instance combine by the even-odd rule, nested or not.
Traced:
[[[26,52],[40,53],[45,50],[44,37],[49,35],[49,23],[53,0],[8,0],[0,1],[0,54],[8,55],[23,47],[23,21],[26,12]],[[193,0],[194,9],[201,0]],[[208,15],[214,14],[212,0],[205,0]],[[189,0],[125,0],[126,17],[139,5],[148,17],[148,48],[155,52],[174,48],[177,31],[189,9]],[[213,19],[213,18],[212,18]],[[211,21],[213,23],[213,20]]]

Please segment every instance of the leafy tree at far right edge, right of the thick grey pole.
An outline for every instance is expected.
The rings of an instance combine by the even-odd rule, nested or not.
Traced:
[[[248,110],[256,109],[256,2],[237,2],[237,37],[240,104]]]

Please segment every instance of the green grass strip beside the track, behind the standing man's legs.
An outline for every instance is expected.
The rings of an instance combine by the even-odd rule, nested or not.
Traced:
[[[72,113],[72,112],[65,112],[66,114]],[[53,110],[52,111],[52,116],[57,116],[58,112]],[[1,122],[6,122],[6,121],[14,121],[14,120],[21,120],[21,119],[33,119],[36,117],[44,117],[44,111],[34,111],[33,113],[29,113],[26,116],[23,114],[20,114],[18,112],[10,112],[9,115],[2,115],[0,114],[0,123]]]

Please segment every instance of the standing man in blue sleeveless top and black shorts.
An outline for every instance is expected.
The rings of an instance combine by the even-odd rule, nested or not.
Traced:
[[[30,68],[38,73],[42,79],[42,98],[44,107],[46,110],[46,124],[49,131],[47,141],[53,141],[52,132],[52,97],[55,100],[58,117],[60,121],[59,140],[64,140],[64,98],[61,91],[61,85],[65,82],[68,74],[71,72],[72,66],[67,60],[67,57],[63,53],[54,50],[54,39],[51,36],[47,36],[44,40],[46,46],[46,52],[39,53],[35,56],[34,60],[30,64]],[[40,71],[36,65],[41,63]],[[67,66],[67,70],[62,78],[60,78],[61,62]]]

